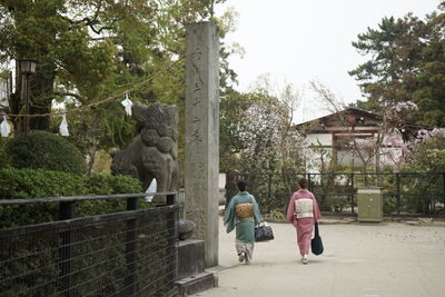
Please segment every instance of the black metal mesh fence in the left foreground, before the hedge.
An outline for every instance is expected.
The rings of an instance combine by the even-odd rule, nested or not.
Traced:
[[[138,195],[0,200],[60,202],[63,220],[0,229],[0,296],[169,296],[177,280],[178,206],[137,210]],[[72,218],[76,204],[127,199],[127,211]]]

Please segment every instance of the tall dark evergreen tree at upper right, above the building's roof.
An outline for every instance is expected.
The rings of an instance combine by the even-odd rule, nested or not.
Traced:
[[[359,108],[383,115],[390,106],[412,101],[418,106],[413,121],[444,126],[444,8],[443,1],[425,20],[412,13],[384,18],[378,29],[358,34],[353,46],[369,57],[349,71],[367,96],[357,102]]]

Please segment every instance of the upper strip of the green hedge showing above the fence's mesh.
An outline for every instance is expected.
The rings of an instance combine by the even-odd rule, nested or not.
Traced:
[[[44,169],[0,169],[0,199],[31,199],[57,196],[95,196],[141,192],[130,176],[92,175]],[[144,208],[146,204],[140,204]],[[126,210],[125,199],[79,202],[78,217]],[[0,227],[22,226],[58,219],[58,204],[0,207]]]

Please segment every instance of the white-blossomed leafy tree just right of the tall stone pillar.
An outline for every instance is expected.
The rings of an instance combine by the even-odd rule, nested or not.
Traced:
[[[273,101],[261,93],[227,92],[220,102],[220,169],[264,169],[277,140]],[[253,168],[255,167],[255,169]]]

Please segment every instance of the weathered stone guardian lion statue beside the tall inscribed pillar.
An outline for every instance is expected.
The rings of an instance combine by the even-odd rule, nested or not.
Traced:
[[[147,189],[156,179],[157,191],[179,188],[178,111],[176,106],[136,102],[132,117],[138,123],[138,136],[123,150],[111,152],[111,172],[131,175]]]

